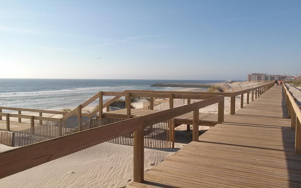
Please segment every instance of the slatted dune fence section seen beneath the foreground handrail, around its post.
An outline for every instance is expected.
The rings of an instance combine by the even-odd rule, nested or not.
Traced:
[[[172,142],[168,137],[169,124],[166,122],[157,123],[144,128],[144,147],[171,148]],[[133,134],[126,134],[109,140],[110,143],[133,146]]]

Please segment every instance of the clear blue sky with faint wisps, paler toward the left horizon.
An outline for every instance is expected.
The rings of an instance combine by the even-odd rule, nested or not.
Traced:
[[[301,74],[300,10],[275,0],[0,1],[0,78]]]

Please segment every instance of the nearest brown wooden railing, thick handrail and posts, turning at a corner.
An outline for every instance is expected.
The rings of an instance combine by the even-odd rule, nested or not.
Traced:
[[[136,96],[136,94],[133,95]],[[150,94],[143,95],[150,96]],[[170,95],[168,94],[168,96]],[[173,97],[195,98],[196,96],[174,94]],[[219,103],[218,116],[221,119],[223,118],[224,111],[224,96],[213,96],[213,98],[196,103],[158,111],[153,114],[135,117],[2,152],[0,153],[0,178],[134,132],[134,181],[142,182],[144,179],[144,128],[193,111],[193,140],[198,141],[199,109],[215,103]]]

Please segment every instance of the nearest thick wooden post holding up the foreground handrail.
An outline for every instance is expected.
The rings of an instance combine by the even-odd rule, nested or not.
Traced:
[[[134,182],[144,180],[144,129],[134,131]]]

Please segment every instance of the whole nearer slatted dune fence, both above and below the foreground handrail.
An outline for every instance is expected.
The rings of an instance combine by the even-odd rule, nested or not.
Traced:
[[[77,119],[67,119],[60,122],[47,122],[21,131],[0,131],[0,143],[7,146],[26,146],[42,142],[67,134],[84,131],[87,129],[108,125],[111,123],[126,120],[128,118],[102,118],[82,120],[79,127]],[[172,142],[168,137],[169,122],[160,122],[144,129],[144,146],[156,148],[170,148]],[[133,132],[109,140],[110,143],[133,146]]]

